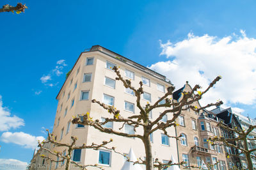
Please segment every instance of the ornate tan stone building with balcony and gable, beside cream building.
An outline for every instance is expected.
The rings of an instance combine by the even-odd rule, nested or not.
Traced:
[[[182,91],[191,91],[188,82],[185,86],[173,93],[174,100],[181,100]],[[200,108],[198,102],[193,106]],[[185,105],[184,107],[189,107]],[[182,111],[177,118],[179,126],[176,127],[177,136],[181,137],[177,140],[177,148],[179,153],[179,162],[185,161],[184,166],[203,166],[203,164],[216,164],[212,169],[226,170],[227,160],[223,150],[223,146],[212,146],[208,143],[209,137],[220,135],[220,128],[217,127],[219,119],[210,111],[195,112],[192,109]],[[180,169],[188,169],[180,166]]]

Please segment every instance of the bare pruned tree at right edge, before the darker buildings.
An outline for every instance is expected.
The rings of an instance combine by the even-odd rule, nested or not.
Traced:
[[[223,143],[225,146],[230,146],[233,148],[236,148],[237,150],[241,151],[241,153],[244,153],[246,156],[246,160],[248,163],[248,169],[252,170],[253,169],[253,164],[252,164],[252,155],[251,153],[253,151],[256,151],[256,148],[250,149],[248,147],[248,141],[256,141],[256,138],[248,138],[248,135],[250,132],[252,132],[253,129],[256,128],[256,125],[250,127],[248,129],[240,129],[240,128],[230,128],[227,125],[225,125],[223,122],[218,123],[218,126],[223,128],[224,130],[227,130],[227,132],[235,132],[236,136],[233,138],[225,138],[223,136],[215,136],[213,138],[209,138],[209,142],[211,144],[216,144],[220,142]],[[227,155],[229,157],[229,155]],[[253,157],[255,158],[255,157]]]

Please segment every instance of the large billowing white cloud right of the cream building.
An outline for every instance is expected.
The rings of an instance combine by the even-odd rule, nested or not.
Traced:
[[[232,35],[195,36],[172,43],[161,43],[161,55],[169,61],[159,61],[149,68],[166,75],[176,89],[186,81],[191,86],[200,84],[203,89],[218,75],[221,79],[207,94],[201,104],[221,99],[225,104],[252,105],[256,101],[256,39]]]

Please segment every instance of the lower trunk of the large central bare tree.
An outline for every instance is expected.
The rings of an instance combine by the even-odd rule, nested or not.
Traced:
[[[145,137],[143,143],[145,146],[145,153],[146,153],[146,169],[153,170],[154,166],[153,166],[153,157],[152,157],[152,147],[151,147],[149,135]]]

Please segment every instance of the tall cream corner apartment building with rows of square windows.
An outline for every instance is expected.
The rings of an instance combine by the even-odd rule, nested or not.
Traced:
[[[159,97],[163,97],[166,88],[170,86],[170,81],[163,75],[156,73],[145,66],[141,66],[111,50],[93,46],[89,51],[82,52],[73,66],[70,75],[64,82],[58,96],[58,107],[52,134],[61,143],[70,143],[70,137],[76,136],[77,146],[86,144],[100,144],[102,141],[113,139],[109,147],[115,146],[121,153],[129,153],[130,148],[134,150],[137,158],[145,157],[145,149],[140,139],[121,137],[113,134],[104,134],[93,127],[83,125],[73,125],[72,116],[79,116],[90,112],[94,120],[104,120],[111,118],[111,115],[98,104],[93,104],[92,99],[99,100],[108,105],[115,105],[120,110],[123,117],[138,113],[136,107],[136,97],[129,89],[125,89],[122,82],[116,81],[116,73],[111,68],[120,66],[120,73],[125,79],[131,79],[132,86],[138,88],[139,82],[143,81],[144,95],[141,96],[141,105],[147,102],[154,103]],[[157,108],[152,112],[152,119],[157,118],[164,108]],[[164,119],[168,119],[172,114],[168,114]],[[165,121],[163,119],[163,121]],[[109,128],[118,130],[122,127],[120,123],[109,123]],[[133,128],[125,125],[122,128],[126,133],[141,133],[140,128],[134,132]],[[175,136],[175,128],[168,128],[168,133]],[[177,143],[173,138],[164,135],[160,130],[151,135],[152,155],[161,161],[170,160],[172,155],[177,160]],[[65,151],[66,148],[53,147],[51,150]],[[99,164],[104,169],[121,169],[125,159],[121,155],[109,150],[75,150],[72,160],[80,164]],[[40,160],[42,161],[42,160]],[[40,163],[40,162],[39,162]],[[56,164],[50,169],[64,169],[63,164]],[[90,169],[94,169],[90,167]]]

